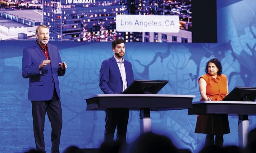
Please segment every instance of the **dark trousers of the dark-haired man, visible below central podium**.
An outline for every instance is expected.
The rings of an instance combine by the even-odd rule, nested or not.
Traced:
[[[126,131],[129,118],[128,109],[106,109],[104,142],[113,141],[117,128],[117,141],[126,142]]]

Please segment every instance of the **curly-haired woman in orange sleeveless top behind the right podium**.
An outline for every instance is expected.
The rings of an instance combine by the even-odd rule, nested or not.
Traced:
[[[201,101],[222,101],[228,94],[227,77],[217,58],[210,59],[199,79]],[[205,145],[223,146],[223,134],[230,133],[227,115],[198,115],[195,133],[205,133]],[[214,140],[215,135],[215,140]]]

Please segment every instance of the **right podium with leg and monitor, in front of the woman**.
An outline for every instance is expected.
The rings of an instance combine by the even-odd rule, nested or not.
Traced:
[[[238,115],[238,141],[240,147],[247,144],[249,132],[248,115],[256,115],[256,88],[235,87],[223,101],[193,102],[193,109],[188,110],[189,115],[227,114]],[[232,127],[231,127],[232,128]]]

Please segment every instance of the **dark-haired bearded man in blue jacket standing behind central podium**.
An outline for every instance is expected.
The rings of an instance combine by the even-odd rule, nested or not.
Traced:
[[[114,56],[104,60],[100,68],[100,89],[104,94],[121,94],[133,80],[132,65],[124,60],[125,42],[115,39],[112,42]],[[128,109],[106,109],[104,142],[113,141],[117,128],[117,140],[126,142],[129,118]]]

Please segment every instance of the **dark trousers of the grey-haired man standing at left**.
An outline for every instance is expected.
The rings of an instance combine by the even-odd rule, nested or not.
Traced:
[[[51,153],[59,153],[60,134],[62,128],[61,103],[54,89],[53,97],[49,101],[32,101],[32,115],[34,125],[34,136],[36,149],[45,152],[44,144],[44,120],[45,113],[52,127],[52,148]]]

